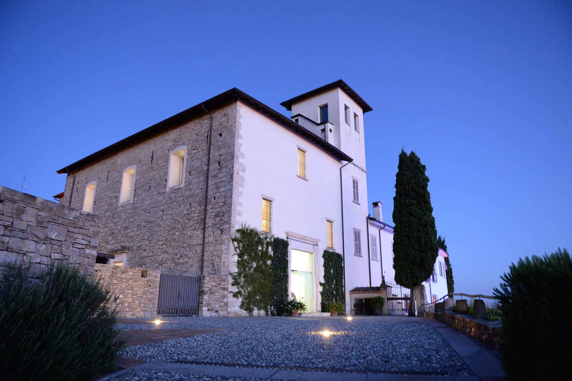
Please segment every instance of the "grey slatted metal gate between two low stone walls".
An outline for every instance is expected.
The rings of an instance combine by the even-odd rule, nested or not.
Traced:
[[[200,285],[198,274],[161,271],[157,315],[198,315]]]

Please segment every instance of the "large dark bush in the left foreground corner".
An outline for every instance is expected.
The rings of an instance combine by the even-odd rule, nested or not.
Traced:
[[[7,270],[0,294],[0,380],[92,380],[116,370],[125,340],[113,331],[112,296],[67,265],[39,283]]]

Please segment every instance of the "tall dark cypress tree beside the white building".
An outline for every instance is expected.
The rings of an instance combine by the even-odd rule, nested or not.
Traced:
[[[401,150],[395,175],[394,269],[396,283],[411,289],[409,316],[415,316],[415,289],[431,276],[439,251],[426,169],[415,152]]]

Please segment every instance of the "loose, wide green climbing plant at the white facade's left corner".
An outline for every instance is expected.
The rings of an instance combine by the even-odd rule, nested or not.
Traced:
[[[232,237],[235,247],[236,272],[231,273],[232,285],[238,291],[229,291],[240,297],[240,308],[253,315],[255,308],[270,315],[274,280],[272,276],[272,240],[261,235],[256,228],[242,225]]]

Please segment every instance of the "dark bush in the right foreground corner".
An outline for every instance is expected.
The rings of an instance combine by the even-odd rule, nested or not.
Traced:
[[[509,380],[572,374],[572,258],[566,249],[519,259],[501,277],[501,353]]]

